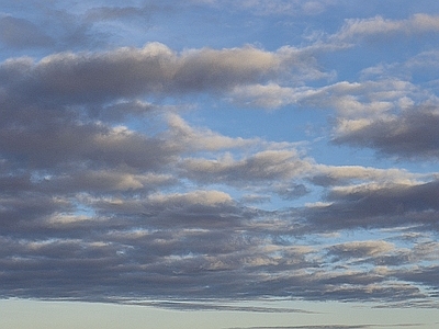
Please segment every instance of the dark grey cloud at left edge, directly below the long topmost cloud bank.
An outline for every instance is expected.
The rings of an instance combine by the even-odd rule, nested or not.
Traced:
[[[110,128],[98,124],[72,124],[46,122],[25,131],[11,126],[0,133],[1,150],[16,166],[50,169],[93,161],[102,166],[128,166],[132,168],[158,168],[175,156],[166,141],[147,138],[125,127]],[[81,136],[81,139],[78,139]],[[25,155],[25,159],[23,159]]]

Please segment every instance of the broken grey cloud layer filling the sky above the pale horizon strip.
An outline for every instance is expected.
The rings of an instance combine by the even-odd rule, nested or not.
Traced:
[[[234,5],[260,18],[317,15],[336,2]],[[95,7],[77,19],[91,31],[168,9]],[[326,163],[309,151],[325,140],[437,162],[437,81],[416,77],[436,50],[361,68],[354,81],[324,65],[374,36],[435,33],[436,15],[347,20],[271,50],[150,42],[54,52],[66,34],[55,41],[34,24],[0,19],[2,44],[47,49],[0,64],[0,297],[437,307],[439,173]],[[317,141],[241,137],[187,115],[212,103],[329,120]]]

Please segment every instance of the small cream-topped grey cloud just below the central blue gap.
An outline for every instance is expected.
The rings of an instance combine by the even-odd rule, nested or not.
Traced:
[[[283,148],[257,151],[239,160],[229,152],[215,160],[188,157],[179,169],[182,178],[200,184],[222,184],[293,200],[309,193],[301,180],[314,170],[313,167],[312,159],[301,157],[294,149]],[[270,201],[267,194],[259,194],[252,195],[251,200]]]

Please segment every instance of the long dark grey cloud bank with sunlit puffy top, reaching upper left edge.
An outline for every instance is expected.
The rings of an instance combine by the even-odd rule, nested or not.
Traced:
[[[25,99],[37,95],[45,102],[93,103],[157,92],[226,91],[279,73],[283,63],[294,56],[284,53],[247,46],[178,55],[151,43],[108,53],[57,54],[38,63],[11,59],[1,66],[0,77]]]

